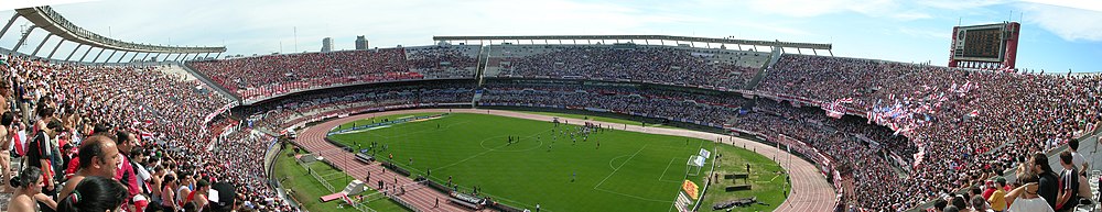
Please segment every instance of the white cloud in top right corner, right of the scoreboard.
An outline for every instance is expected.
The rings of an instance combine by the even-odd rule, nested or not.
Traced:
[[[1065,41],[1102,41],[1102,12],[1041,3],[1016,7],[1025,11],[1024,24],[1037,24]]]

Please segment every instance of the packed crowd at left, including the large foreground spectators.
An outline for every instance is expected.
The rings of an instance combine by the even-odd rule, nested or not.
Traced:
[[[204,115],[228,101],[160,68],[0,56],[0,143],[13,146],[0,164],[18,169],[8,211],[291,211],[207,150]]]

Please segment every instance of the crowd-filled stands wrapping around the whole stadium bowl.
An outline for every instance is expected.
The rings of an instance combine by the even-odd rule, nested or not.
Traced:
[[[248,101],[344,85],[474,79],[479,51],[428,46],[187,65]],[[248,133],[219,136],[223,129],[280,132],[336,114],[469,104],[474,99],[487,107],[623,113],[723,127],[770,141],[799,141],[822,155],[811,157],[832,178],[843,204],[900,210],[983,185],[1023,165],[1022,158],[1031,153],[1093,132],[1102,121],[1098,75],[995,72],[807,55],[784,55],[763,72],[764,64],[739,64],[746,58],[684,49],[497,51],[489,54],[487,71],[493,74],[486,76],[497,79],[482,86],[474,80],[412,82],[295,96],[240,109],[237,113],[244,115],[236,119],[248,124],[212,119],[210,114],[233,105],[229,100],[202,82],[163,74],[162,67],[51,64],[7,56],[0,74],[10,96],[2,108],[17,120],[6,127],[22,134],[14,136],[21,144],[14,150],[21,154],[41,129],[53,129],[46,126],[50,120],[60,121],[56,152],[64,154],[50,170],[58,180],[66,176],[60,165],[74,159],[72,150],[80,141],[97,133],[120,141],[125,138],[118,135],[125,134],[100,131],[127,132],[139,135],[143,145],[125,157],[134,157],[134,167],[149,172],[133,183],[150,187],[131,197],[173,202],[161,201],[165,193],[182,194],[177,192],[183,190],[162,185],[172,176],[187,179],[177,187],[199,186],[201,179],[233,183],[240,202],[261,211],[293,211],[276,198],[262,171],[262,157],[273,138]],[[747,91],[757,99],[726,92],[747,87],[759,74],[764,79]],[[572,79],[674,88],[554,81]],[[39,115],[47,110],[56,112]],[[845,113],[853,115],[842,116]]]

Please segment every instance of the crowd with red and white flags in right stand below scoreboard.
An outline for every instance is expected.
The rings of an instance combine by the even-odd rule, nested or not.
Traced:
[[[1015,158],[1089,133],[1084,131],[1102,120],[1100,81],[1096,75],[995,72],[786,55],[758,91],[807,103],[853,98],[852,107],[862,110],[858,113],[907,136],[918,147],[916,171],[910,176],[916,181],[895,190],[922,193],[911,199],[927,201],[980,183],[994,169],[1012,167]],[[937,161],[922,163],[925,158]],[[893,185],[875,178],[864,183]],[[885,209],[900,202],[892,197],[852,200]]]

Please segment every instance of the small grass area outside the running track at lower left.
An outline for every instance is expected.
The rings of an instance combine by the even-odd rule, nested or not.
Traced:
[[[284,149],[283,154],[280,154],[279,157],[276,158],[276,167],[273,170],[276,179],[287,179],[282,182],[283,187],[293,188],[294,198],[298,199],[299,203],[303,204],[307,211],[359,212],[355,208],[348,205],[344,205],[342,208],[341,205],[344,204],[344,201],[342,200],[322,202],[318,198],[333,192],[329,192],[324,186],[322,186],[322,182],[318,182],[317,179],[306,172],[306,169],[295,163],[293,156],[288,156],[288,153],[292,153],[290,147]],[[333,185],[336,190],[343,190],[344,187],[352,181],[352,178],[349,178],[347,174],[334,169],[327,164],[312,163],[309,166],[312,170],[316,171],[318,176],[322,176],[323,179],[329,182],[329,185]],[[361,193],[365,197],[371,197],[367,199],[374,200],[368,201],[366,204],[368,208],[379,212],[410,211],[397,202],[387,198],[381,198],[375,193],[378,193],[378,191],[368,190]]]

